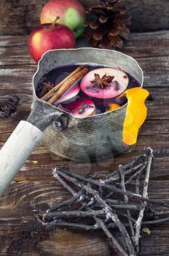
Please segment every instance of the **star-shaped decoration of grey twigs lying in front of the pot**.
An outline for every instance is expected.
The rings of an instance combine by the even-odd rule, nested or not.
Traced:
[[[152,148],[146,148],[138,157],[133,158],[132,162],[119,165],[118,170],[105,179],[86,178],[69,173],[63,167],[55,168],[53,170],[54,177],[71,192],[72,197],[58,203],[57,206],[52,206],[47,214],[40,216],[39,221],[47,226],[57,225],[82,230],[102,229],[109,238],[110,245],[113,248],[116,246],[121,255],[137,255],[141,227],[169,220],[169,211],[154,210],[157,209],[157,206],[169,206],[165,202],[149,199],[147,195],[151,164]],[[143,193],[140,194],[140,178],[144,170],[146,170],[146,177]],[[133,192],[131,184],[135,184],[135,192]],[[129,190],[131,188],[132,190]],[[122,195],[123,200],[112,199],[110,197],[112,194],[114,194],[114,198]],[[80,208],[79,203],[81,204]],[[63,207],[64,211],[61,211]],[[61,210],[58,211],[58,209]],[[137,214],[138,219],[135,219],[134,213]],[[94,222],[85,223],[86,217],[94,219]],[[143,217],[147,217],[149,221],[143,222]],[[159,219],[155,219],[157,217]],[[130,229],[126,229],[126,227]],[[122,245],[114,238],[110,228],[120,231]]]

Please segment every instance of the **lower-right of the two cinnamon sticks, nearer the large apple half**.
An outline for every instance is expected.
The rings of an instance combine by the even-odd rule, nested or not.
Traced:
[[[87,74],[89,69],[84,67],[82,70],[77,72],[75,75],[71,76],[65,83],[60,86],[60,89],[50,98],[47,102],[53,104],[57,99],[59,99],[71,86],[74,85],[83,75]]]

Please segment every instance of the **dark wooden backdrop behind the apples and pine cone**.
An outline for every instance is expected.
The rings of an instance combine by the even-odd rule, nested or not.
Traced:
[[[89,7],[98,0],[80,0]],[[1,0],[0,34],[22,35],[39,25],[39,14],[47,0]],[[122,0],[133,16],[132,31],[157,31],[169,28],[168,0]]]

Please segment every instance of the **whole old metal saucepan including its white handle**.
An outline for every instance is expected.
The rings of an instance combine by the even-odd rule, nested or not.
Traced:
[[[20,121],[0,151],[0,195],[40,140],[52,153],[80,161],[89,157],[97,161],[126,149],[122,129],[127,104],[109,113],[75,118],[36,97],[39,80],[51,69],[86,63],[119,67],[143,84],[143,72],[137,61],[115,50],[79,48],[45,53],[33,78],[31,114],[27,121]]]

